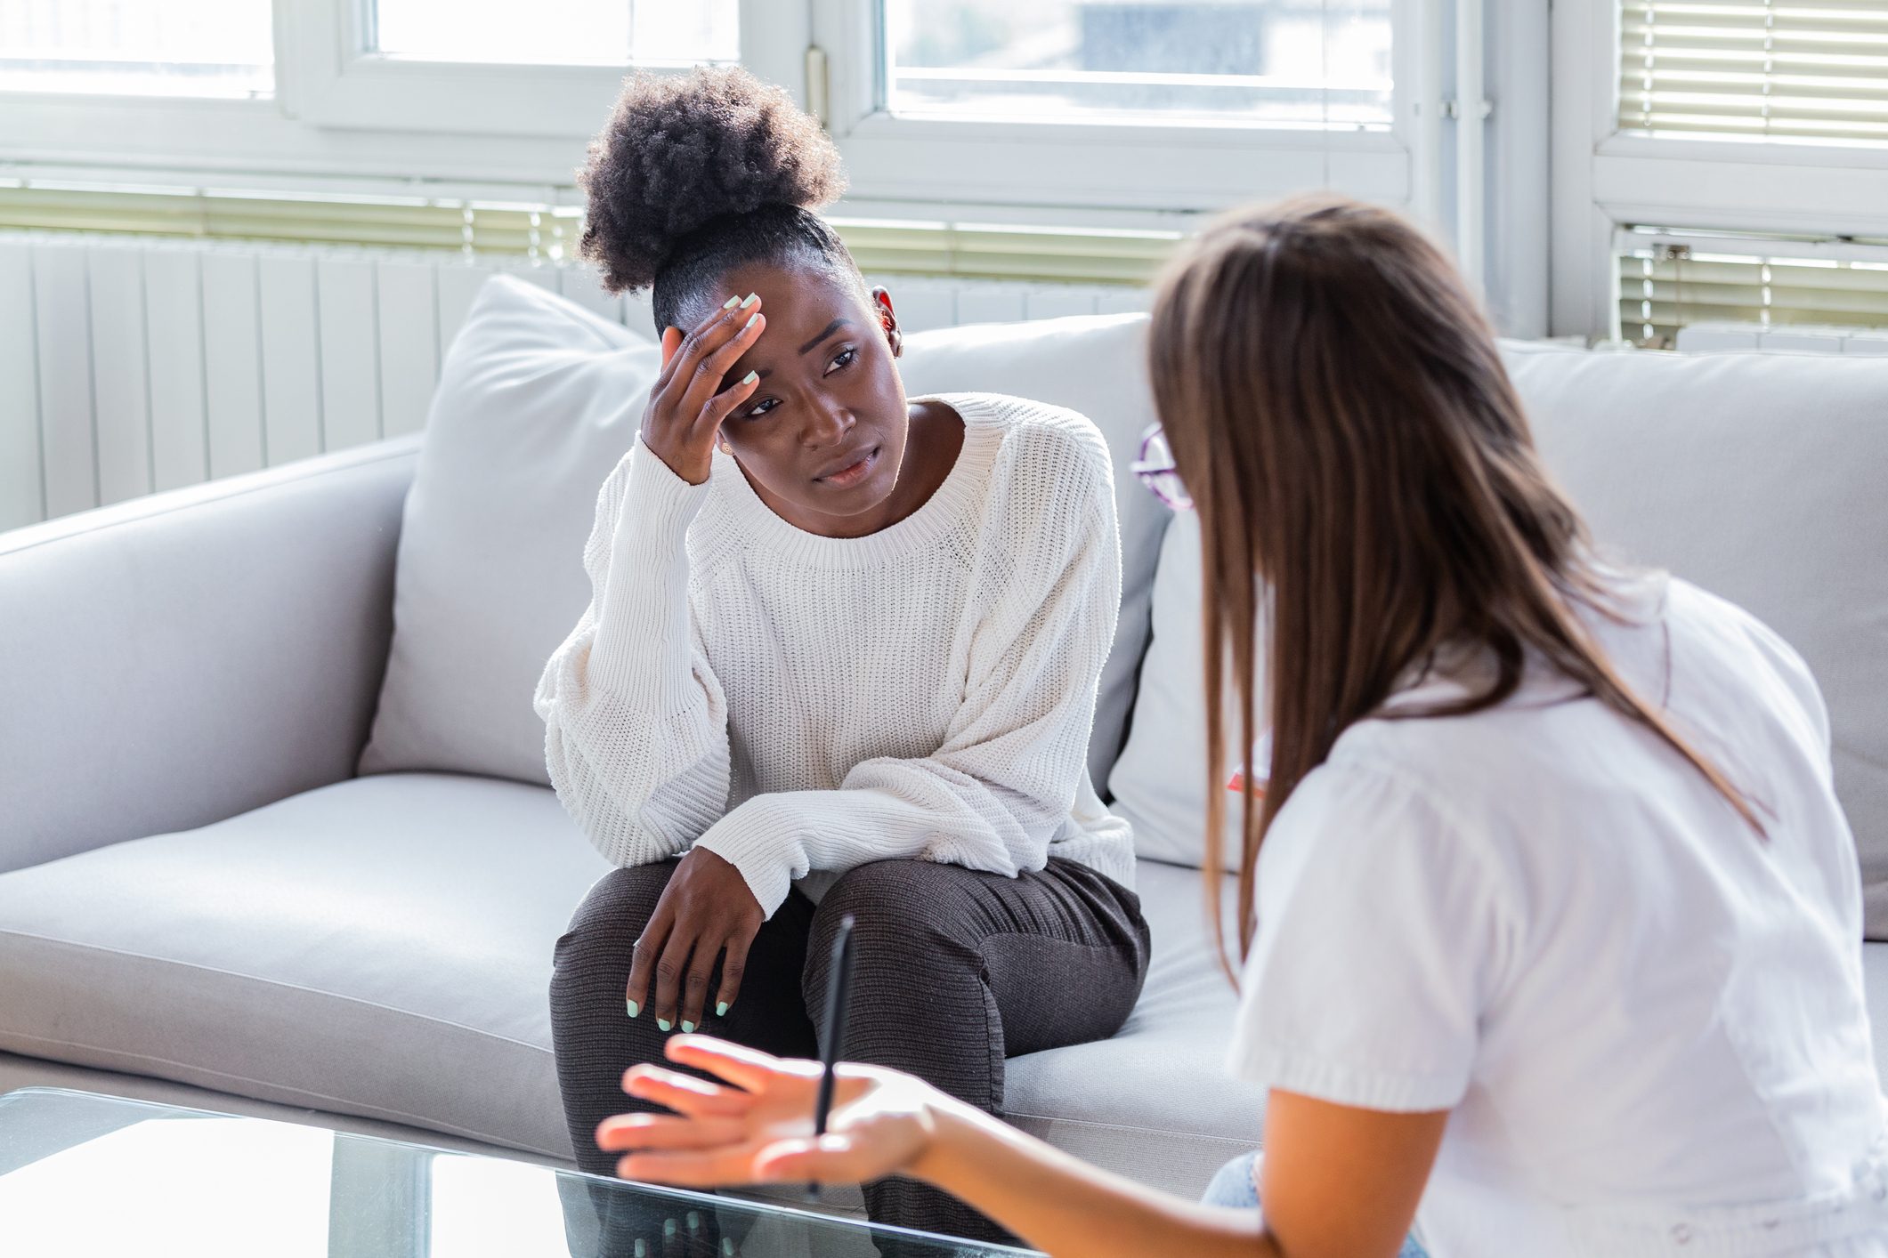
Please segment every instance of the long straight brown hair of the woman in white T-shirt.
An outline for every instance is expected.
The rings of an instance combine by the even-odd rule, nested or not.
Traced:
[[[1161,273],[1154,400],[1201,519],[1206,900],[1220,917],[1225,670],[1239,747],[1263,677],[1273,762],[1244,775],[1239,951],[1259,843],[1337,737],[1412,664],[1484,647],[1501,703],[1533,651],[1656,732],[1762,834],[1745,798],[1601,654],[1571,604],[1605,611],[1586,526],[1535,455],[1495,336],[1454,266],[1405,219],[1308,196],[1222,215]],[[1265,660],[1256,658],[1265,619]]]

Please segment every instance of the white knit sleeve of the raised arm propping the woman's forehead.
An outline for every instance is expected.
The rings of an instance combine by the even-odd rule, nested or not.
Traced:
[[[666,860],[727,811],[727,700],[689,611],[708,494],[640,441],[597,496],[591,604],[538,679],[551,786],[617,866]]]

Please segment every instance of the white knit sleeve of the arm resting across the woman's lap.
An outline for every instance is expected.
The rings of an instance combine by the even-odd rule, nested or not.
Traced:
[[[1033,509],[978,539],[989,602],[944,743],[863,760],[836,790],[755,796],[699,839],[765,913],[810,869],[906,856],[1014,877],[1048,864],[1086,773],[1121,602],[1112,477],[1093,445],[1074,470],[1018,470],[1035,481]]]

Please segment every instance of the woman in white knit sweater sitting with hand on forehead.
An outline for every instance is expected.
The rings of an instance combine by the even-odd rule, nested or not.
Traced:
[[[578,1164],[615,1164],[597,1126],[674,1028],[814,1054],[844,915],[848,1052],[995,1111],[1004,1054],[1112,1035],[1148,964],[1086,768],[1106,445],[1021,398],[904,396],[889,296],[812,213],[838,155],[746,72],[634,79],[583,181],[583,249],[653,283],[665,366],[536,692],[551,785],[619,866],[557,941]],[[867,1203],[1004,1235],[910,1179]]]

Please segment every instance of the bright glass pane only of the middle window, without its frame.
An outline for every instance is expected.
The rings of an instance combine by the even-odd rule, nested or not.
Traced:
[[[893,0],[908,117],[1388,130],[1390,2]]]

